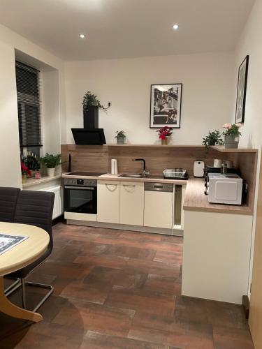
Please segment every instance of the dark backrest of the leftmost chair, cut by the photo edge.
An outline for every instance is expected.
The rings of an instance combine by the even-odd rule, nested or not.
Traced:
[[[0,221],[13,223],[20,188],[0,187]]]

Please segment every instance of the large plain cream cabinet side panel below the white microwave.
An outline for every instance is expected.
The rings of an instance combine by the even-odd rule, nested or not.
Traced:
[[[253,217],[184,211],[184,218],[182,295],[241,304],[248,289]]]

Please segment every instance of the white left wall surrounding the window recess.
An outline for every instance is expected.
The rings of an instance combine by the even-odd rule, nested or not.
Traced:
[[[63,119],[65,124],[64,103],[64,64],[61,59],[31,43],[26,38],[16,34],[0,24],[0,186],[22,186],[20,170],[20,147],[17,117],[17,94],[15,84],[15,56],[22,57],[24,62],[31,63],[36,68],[57,70],[57,86],[59,87],[59,103],[54,116],[57,121]],[[47,80],[48,81],[48,80]],[[57,114],[59,112],[59,114]],[[65,126],[56,125],[53,135],[57,144],[64,142]],[[57,126],[58,125],[58,126]],[[45,133],[47,140],[48,133]],[[51,140],[51,138],[49,138]],[[48,141],[48,144],[50,141]],[[56,147],[57,144],[52,144]],[[50,148],[49,148],[50,149]]]

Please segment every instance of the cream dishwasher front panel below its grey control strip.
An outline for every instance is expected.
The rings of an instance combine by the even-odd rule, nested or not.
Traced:
[[[144,225],[155,228],[172,228],[173,193],[145,191]]]

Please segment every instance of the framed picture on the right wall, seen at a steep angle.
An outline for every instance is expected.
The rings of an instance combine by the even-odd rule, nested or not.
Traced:
[[[235,124],[238,122],[244,122],[245,120],[248,64],[249,56],[245,57],[244,61],[242,61],[238,68],[238,93],[235,107]]]

